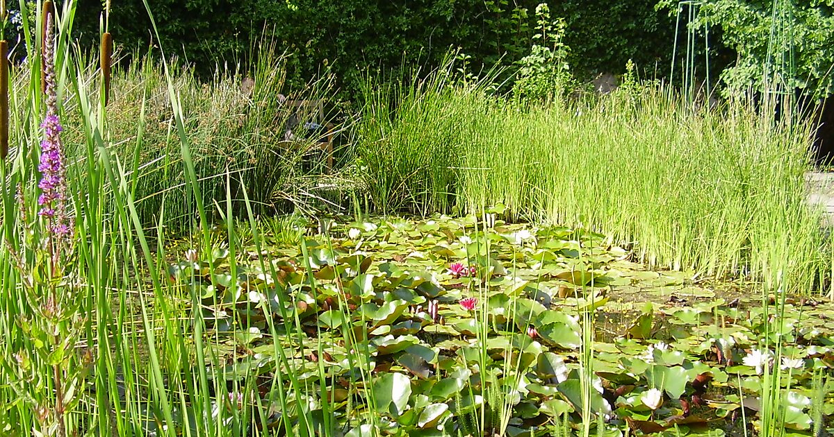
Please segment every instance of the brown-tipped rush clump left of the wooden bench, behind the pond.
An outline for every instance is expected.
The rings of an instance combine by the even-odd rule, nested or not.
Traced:
[[[303,90],[284,87],[284,57],[275,54],[268,39],[259,51],[253,70],[242,72],[235,67],[218,66],[214,77],[200,82],[187,66],[169,62],[173,87],[182,102],[183,120],[188,142],[193,146],[194,169],[202,201],[211,216],[217,217],[214,201],[224,199],[229,171],[233,186],[236,215],[245,216],[242,190],[249,187],[249,200],[256,215],[292,211],[313,201],[312,189],[320,174],[317,168],[302,163],[318,148],[314,138],[303,142],[284,141],[285,127],[291,117],[287,100],[323,98],[330,89],[326,77]],[[84,81],[93,77],[93,60],[83,59]],[[98,88],[88,92],[98,96]],[[138,163],[138,175],[132,187],[140,220],[152,226],[160,220],[165,206],[165,226],[182,231],[193,218],[195,204],[185,198],[183,162],[179,155],[179,137],[168,96],[165,72],[156,56],[138,58],[122,69],[114,69],[111,85],[104,92],[109,97],[107,131],[114,141],[113,151],[125,162]],[[286,97],[280,97],[282,92]],[[98,101],[98,97],[89,96]],[[144,107],[138,104],[144,102]],[[74,106],[74,102],[68,102]],[[137,120],[144,111],[147,118],[138,131]],[[83,145],[88,132],[80,128],[77,113],[68,115],[68,144]],[[83,156],[83,146],[71,150]]]

